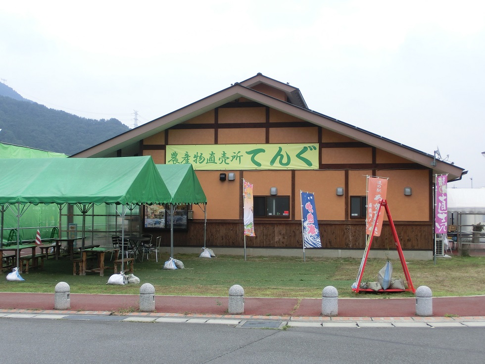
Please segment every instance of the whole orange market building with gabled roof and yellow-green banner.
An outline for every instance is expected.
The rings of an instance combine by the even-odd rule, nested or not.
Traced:
[[[359,249],[354,255],[361,256],[366,176],[379,176],[389,178],[387,200],[402,248],[430,258],[434,175],[453,181],[466,173],[313,111],[297,88],[260,73],[72,157],[142,155],[157,164],[192,162],[207,196],[210,247],[244,246],[242,180],[252,183],[256,237],[245,243],[269,248],[262,254],[301,249],[301,190],[315,194],[323,249],[312,254],[352,256]],[[204,213],[191,210],[175,245],[200,248]],[[167,230],[152,231],[168,244]],[[373,250],[388,248],[394,242],[385,223]]]

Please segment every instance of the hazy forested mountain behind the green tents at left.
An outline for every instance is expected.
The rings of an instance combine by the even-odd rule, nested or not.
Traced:
[[[73,155],[130,128],[118,119],[87,119],[24,99],[0,83],[0,142]]]

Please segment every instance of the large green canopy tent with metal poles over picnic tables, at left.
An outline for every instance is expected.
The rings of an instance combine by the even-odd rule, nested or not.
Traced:
[[[0,170],[0,205],[17,204],[19,227],[20,205],[115,204],[124,218],[130,206],[172,202],[151,156],[0,159]]]

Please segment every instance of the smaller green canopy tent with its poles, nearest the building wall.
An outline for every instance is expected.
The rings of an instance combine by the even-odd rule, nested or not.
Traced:
[[[180,204],[196,204],[204,211],[204,248],[207,225],[207,198],[200,182],[195,174],[192,164],[157,164],[156,168],[160,173],[168,191],[171,195],[171,202],[165,205],[170,213],[170,256],[173,257],[173,215]],[[201,206],[203,205],[203,207]]]

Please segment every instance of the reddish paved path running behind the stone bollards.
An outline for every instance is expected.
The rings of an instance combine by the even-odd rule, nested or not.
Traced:
[[[73,311],[114,312],[139,308],[138,295],[71,294]],[[415,298],[342,298],[338,301],[342,317],[412,317]],[[0,309],[52,310],[53,293],[0,293]],[[227,314],[228,297],[155,296],[159,313]],[[244,314],[320,316],[322,299],[244,298]],[[433,315],[485,316],[485,296],[434,297]]]

